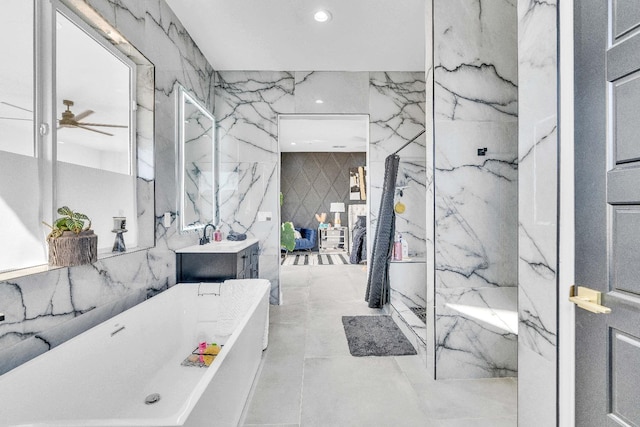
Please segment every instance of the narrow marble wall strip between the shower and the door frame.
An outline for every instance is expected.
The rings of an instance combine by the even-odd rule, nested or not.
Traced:
[[[555,425],[557,415],[557,14],[556,1],[518,1],[521,426]]]

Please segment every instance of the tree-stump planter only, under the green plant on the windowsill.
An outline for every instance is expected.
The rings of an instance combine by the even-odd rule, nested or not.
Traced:
[[[80,234],[65,231],[62,236],[48,239],[49,265],[72,267],[91,264],[98,260],[98,236],[93,230]]]

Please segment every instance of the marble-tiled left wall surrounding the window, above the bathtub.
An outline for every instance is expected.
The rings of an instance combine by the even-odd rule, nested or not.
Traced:
[[[140,67],[138,90],[138,221],[151,249],[101,259],[88,266],[0,281],[0,374],[175,283],[173,249],[195,244],[195,233],[165,228],[176,213],[175,83],[212,105],[213,69],[162,0],[65,0],[90,5],[154,68]],[[146,77],[146,78],[145,78]],[[140,99],[143,101],[141,102]],[[155,115],[154,115],[155,110]],[[155,118],[155,121],[154,121]],[[155,205],[155,209],[154,209]]]

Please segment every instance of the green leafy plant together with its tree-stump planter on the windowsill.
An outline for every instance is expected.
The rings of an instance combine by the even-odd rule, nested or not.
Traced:
[[[60,218],[49,225],[49,265],[71,267],[91,264],[98,259],[98,236],[91,230],[91,220],[67,206],[58,209]]]

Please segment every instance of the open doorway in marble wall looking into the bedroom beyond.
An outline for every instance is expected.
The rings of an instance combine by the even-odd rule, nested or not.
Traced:
[[[282,114],[278,150],[280,265],[366,265],[369,116]]]

